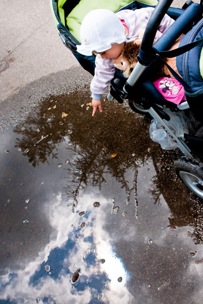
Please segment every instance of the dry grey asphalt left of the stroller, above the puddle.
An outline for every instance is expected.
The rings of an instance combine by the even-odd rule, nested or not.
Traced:
[[[89,84],[91,75],[63,46],[49,0],[1,1],[0,132],[22,121],[43,98]]]

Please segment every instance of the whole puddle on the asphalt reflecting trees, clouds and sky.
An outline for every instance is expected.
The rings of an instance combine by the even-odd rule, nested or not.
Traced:
[[[1,135],[0,302],[202,298],[202,207],[177,152],[122,105],[92,118],[82,97],[45,100]]]

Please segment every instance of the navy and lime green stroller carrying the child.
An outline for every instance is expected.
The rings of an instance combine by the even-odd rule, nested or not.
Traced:
[[[80,24],[84,16],[93,9],[106,8],[114,12],[123,9],[140,9],[147,6],[155,8],[144,33],[139,53],[139,62],[125,79],[116,70],[111,82],[109,100],[118,102],[128,100],[133,111],[153,118],[170,140],[182,152],[182,156],[174,162],[174,170],[179,178],[200,199],[203,199],[203,0],[193,3],[188,0],[183,8],[171,7],[173,0],[77,0],[70,4],[66,0],[50,0],[52,14],[59,36],[63,44],[69,48],[81,66],[94,75],[95,56],[84,56],[77,52],[80,44]],[[154,37],[163,16],[167,13],[175,22],[153,45]],[[169,50],[174,42],[182,36],[178,49]],[[179,105],[167,101],[150,81],[156,62],[165,57],[177,57],[178,74],[168,66],[174,78],[183,85],[187,101]],[[169,111],[168,111],[169,110]],[[188,132],[177,134],[171,121],[172,114],[185,115],[192,124]],[[173,124],[172,124],[173,125]],[[202,162],[201,162],[202,160]]]

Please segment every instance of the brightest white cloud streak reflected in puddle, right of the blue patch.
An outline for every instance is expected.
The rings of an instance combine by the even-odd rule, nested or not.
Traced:
[[[122,260],[116,256],[113,250],[113,243],[117,241],[116,236],[112,239],[109,233],[105,230],[106,209],[111,206],[111,202],[98,198],[98,201],[103,202],[103,209],[94,210],[96,220],[93,221],[93,237],[96,244],[97,259],[105,259],[105,263],[100,263],[100,272],[105,273],[110,281],[107,282],[107,287],[103,290],[103,301],[107,303],[130,303],[133,296],[127,289],[127,281],[129,273],[125,270]],[[122,277],[122,282],[118,282],[118,278]]]

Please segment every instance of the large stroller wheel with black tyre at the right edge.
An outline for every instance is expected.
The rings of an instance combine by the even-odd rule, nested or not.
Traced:
[[[203,199],[203,163],[191,157],[182,156],[174,162],[174,170],[186,186]]]

